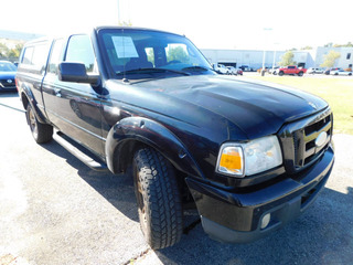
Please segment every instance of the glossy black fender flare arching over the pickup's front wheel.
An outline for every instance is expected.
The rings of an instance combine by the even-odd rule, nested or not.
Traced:
[[[178,137],[161,124],[142,117],[128,117],[118,121],[109,131],[106,141],[106,159],[110,171],[117,173],[124,157],[127,141],[151,146],[161,152],[178,170],[189,176],[204,178],[195,160]],[[133,155],[132,155],[133,156]]]

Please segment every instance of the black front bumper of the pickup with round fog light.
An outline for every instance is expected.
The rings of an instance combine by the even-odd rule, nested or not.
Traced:
[[[193,178],[186,178],[186,183],[196,202],[202,226],[211,237],[228,243],[247,243],[271,233],[302,213],[323,189],[333,162],[330,146],[322,158],[304,172],[250,192],[236,193]],[[261,229],[261,220],[268,213],[270,222]]]

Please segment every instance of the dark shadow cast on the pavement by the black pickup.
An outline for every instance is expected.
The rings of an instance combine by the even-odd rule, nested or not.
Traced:
[[[94,171],[54,141],[42,147],[66,159],[118,211],[139,222],[131,177]],[[185,215],[188,233],[181,242],[154,252],[163,264],[352,264],[353,261],[352,187],[344,193],[324,188],[299,219],[249,244],[213,241],[203,232],[195,211],[186,211]]]

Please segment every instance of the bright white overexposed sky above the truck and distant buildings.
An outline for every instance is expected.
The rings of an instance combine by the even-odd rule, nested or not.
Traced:
[[[184,34],[200,49],[288,50],[353,43],[352,0],[2,1],[0,30],[28,33],[62,34],[125,21]]]

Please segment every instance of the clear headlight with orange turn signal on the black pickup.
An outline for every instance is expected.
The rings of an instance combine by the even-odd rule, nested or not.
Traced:
[[[221,147],[216,171],[238,178],[256,174],[282,163],[276,136],[267,136],[247,144],[224,144]]]

